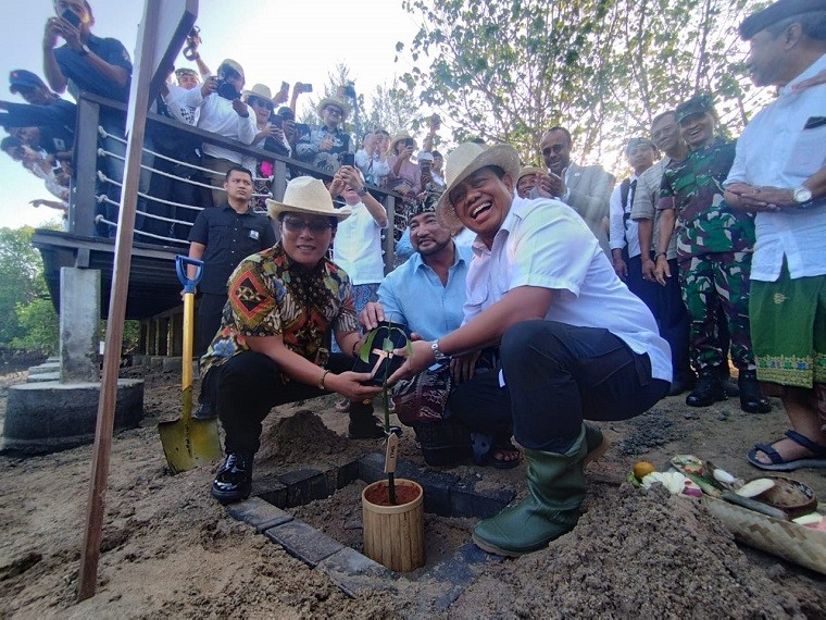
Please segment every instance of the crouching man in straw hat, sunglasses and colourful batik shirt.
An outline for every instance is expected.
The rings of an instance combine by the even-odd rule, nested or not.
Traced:
[[[348,370],[361,342],[353,288],[326,258],[350,209],[334,209],[324,184],[309,176],[290,181],[284,201],[267,200],[267,209],[281,239],[229,276],[221,328],[201,360],[226,432],[226,460],[212,483],[222,503],[249,496],[261,423],[273,407],[328,392],[362,404],[381,389],[366,385],[370,374]],[[347,355],[329,354],[329,331]],[[375,425],[372,407],[351,408],[351,435]]]

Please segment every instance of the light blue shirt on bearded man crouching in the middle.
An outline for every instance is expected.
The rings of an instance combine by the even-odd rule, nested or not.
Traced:
[[[378,287],[378,300],[388,321],[403,324],[426,340],[440,338],[462,324],[465,278],[473,253],[466,246],[455,248],[447,285],[418,252],[387,274]]]

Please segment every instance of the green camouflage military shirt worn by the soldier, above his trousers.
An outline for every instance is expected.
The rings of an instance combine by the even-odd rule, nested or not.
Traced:
[[[723,200],[723,182],[735,161],[735,141],[716,138],[672,160],[663,172],[659,209],[675,208],[677,257],[749,251],[754,246],[754,218]]]

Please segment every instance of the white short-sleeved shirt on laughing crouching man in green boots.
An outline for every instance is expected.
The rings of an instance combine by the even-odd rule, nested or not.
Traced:
[[[520,286],[556,292],[545,315],[583,327],[601,327],[636,354],[648,354],[654,379],[671,382],[668,344],[651,311],[622,283],[583,219],[554,199],[514,198],[490,250],[477,238],[467,273],[464,322]]]

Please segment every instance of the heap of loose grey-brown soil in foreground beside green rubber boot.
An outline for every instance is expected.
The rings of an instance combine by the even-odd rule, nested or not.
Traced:
[[[576,529],[547,550],[492,568],[451,607],[464,616],[781,618],[809,615],[751,563],[698,503],[659,486],[591,485]],[[809,593],[812,596],[813,593]],[[716,610],[716,611],[714,611]]]

